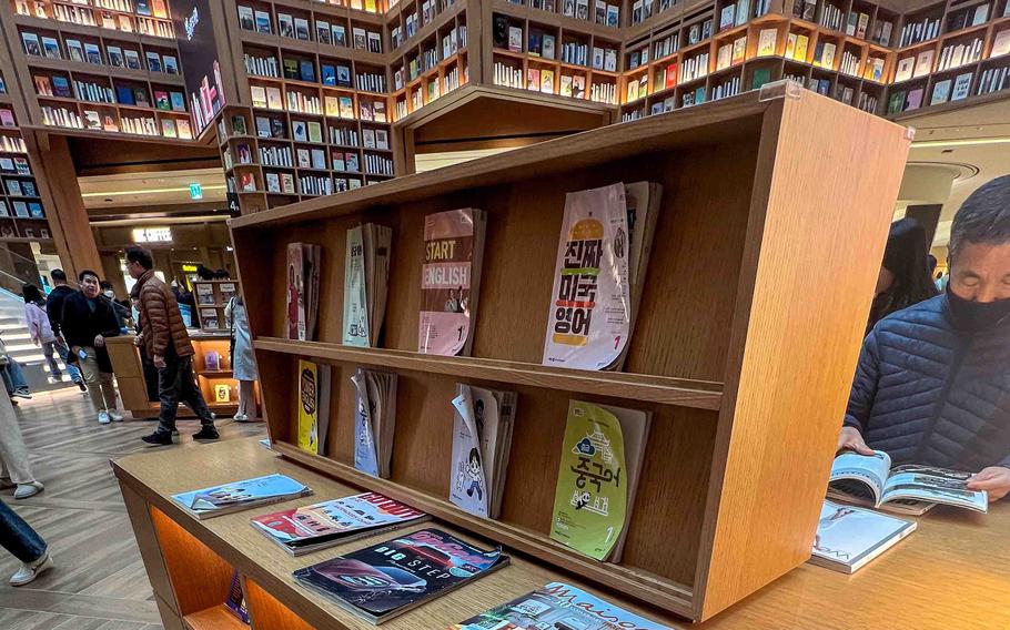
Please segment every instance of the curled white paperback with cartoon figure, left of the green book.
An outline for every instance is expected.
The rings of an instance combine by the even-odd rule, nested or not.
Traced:
[[[456,394],[448,498],[473,515],[498,518],[516,393],[457,384]]]

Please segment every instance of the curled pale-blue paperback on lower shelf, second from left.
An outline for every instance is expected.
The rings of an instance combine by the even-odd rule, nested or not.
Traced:
[[[390,477],[396,429],[397,375],[357,368],[354,385],[354,467],[373,477]]]

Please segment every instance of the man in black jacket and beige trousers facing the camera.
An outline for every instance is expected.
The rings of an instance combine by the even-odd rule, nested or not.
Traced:
[[[112,362],[105,349],[105,337],[119,335],[119,322],[109,301],[99,294],[98,274],[84,270],[78,278],[81,291],[63,299],[60,318],[70,350],[80,360],[81,372],[88,382],[91,403],[98,411],[98,421],[123,421],[115,405],[115,385],[112,383]]]

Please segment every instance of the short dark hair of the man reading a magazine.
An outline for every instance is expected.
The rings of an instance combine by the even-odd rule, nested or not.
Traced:
[[[947,244],[951,261],[964,243],[1010,243],[1010,175],[983,184],[961,204]]]

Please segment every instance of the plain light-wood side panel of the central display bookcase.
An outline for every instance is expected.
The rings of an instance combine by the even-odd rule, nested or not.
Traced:
[[[701,618],[810,555],[908,154],[901,128],[826,98],[775,106],[778,133],[764,134],[774,153],[762,146],[774,161],[758,174],[770,183],[755,191],[738,291],[748,297],[734,316]]]

